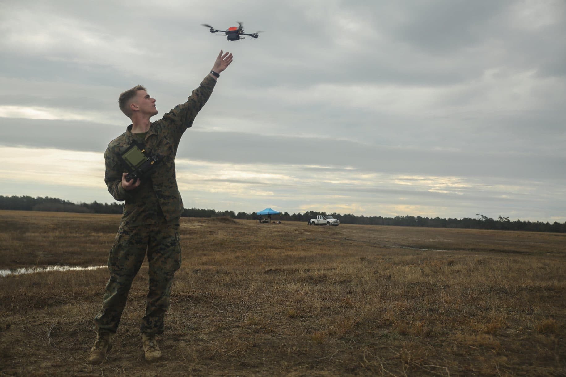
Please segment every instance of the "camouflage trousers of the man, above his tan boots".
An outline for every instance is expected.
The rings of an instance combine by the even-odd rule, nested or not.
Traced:
[[[173,275],[181,266],[179,241],[179,220],[155,225],[120,226],[114,246],[110,249],[110,279],[102,298],[102,309],[94,319],[95,331],[117,331],[132,280],[147,251],[149,293],[140,330],[147,334],[163,333],[163,318],[169,309]]]

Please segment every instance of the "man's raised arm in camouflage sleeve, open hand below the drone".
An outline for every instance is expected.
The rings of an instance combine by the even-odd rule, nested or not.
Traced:
[[[175,146],[178,145],[179,140],[181,140],[183,132],[185,132],[188,127],[192,126],[196,114],[198,114],[204,104],[207,103],[216,85],[216,80],[220,77],[220,72],[228,68],[231,62],[232,54],[228,52],[222,54],[222,50],[220,50],[211,72],[204,78],[199,87],[192,91],[187,101],[184,104],[175,106],[175,108],[171,109],[163,116],[163,121],[173,125],[173,127],[169,126],[164,131],[171,136],[171,142],[173,142]]]

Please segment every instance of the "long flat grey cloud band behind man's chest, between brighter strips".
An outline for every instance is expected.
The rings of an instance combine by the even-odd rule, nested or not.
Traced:
[[[6,118],[4,118],[5,120]],[[2,144],[104,152],[125,128],[77,121],[10,119],[0,123]],[[387,146],[331,138],[203,132],[189,128],[178,158],[232,164],[295,164],[367,172],[468,177],[563,177],[566,155],[520,151],[476,152]],[[307,168],[312,171],[313,168]],[[328,170],[325,170],[328,171]]]

